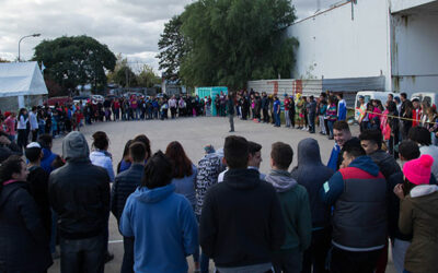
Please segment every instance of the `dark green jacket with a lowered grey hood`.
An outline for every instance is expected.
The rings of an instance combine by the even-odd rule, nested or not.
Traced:
[[[287,170],[270,170],[265,180],[277,191],[286,226],[286,239],[281,250],[304,251],[310,246],[312,222],[309,195],[304,187]]]

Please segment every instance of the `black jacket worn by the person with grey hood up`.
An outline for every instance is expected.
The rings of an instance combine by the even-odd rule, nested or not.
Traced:
[[[49,198],[59,217],[59,235],[83,239],[100,235],[110,216],[110,177],[89,158],[69,159],[50,174]]]

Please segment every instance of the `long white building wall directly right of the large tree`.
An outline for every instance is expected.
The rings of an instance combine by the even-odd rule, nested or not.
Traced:
[[[353,7],[353,8],[351,8]],[[391,90],[391,36],[388,0],[359,0],[297,22],[295,79],[387,78]]]

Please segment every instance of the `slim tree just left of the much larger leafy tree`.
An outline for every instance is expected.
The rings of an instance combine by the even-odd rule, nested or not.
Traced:
[[[168,80],[180,79],[180,66],[183,57],[187,52],[187,45],[181,33],[183,22],[181,16],[173,16],[164,24],[164,32],[160,36],[158,48],[160,54],[160,70],[164,71],[164,78]]]

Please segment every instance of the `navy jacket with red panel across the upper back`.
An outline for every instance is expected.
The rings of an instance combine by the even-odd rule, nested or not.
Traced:
[[[323,185],[322,200],[334,204],[333,245],[373,251],[387,242],[387,181],[369,156],[359,156]]]

